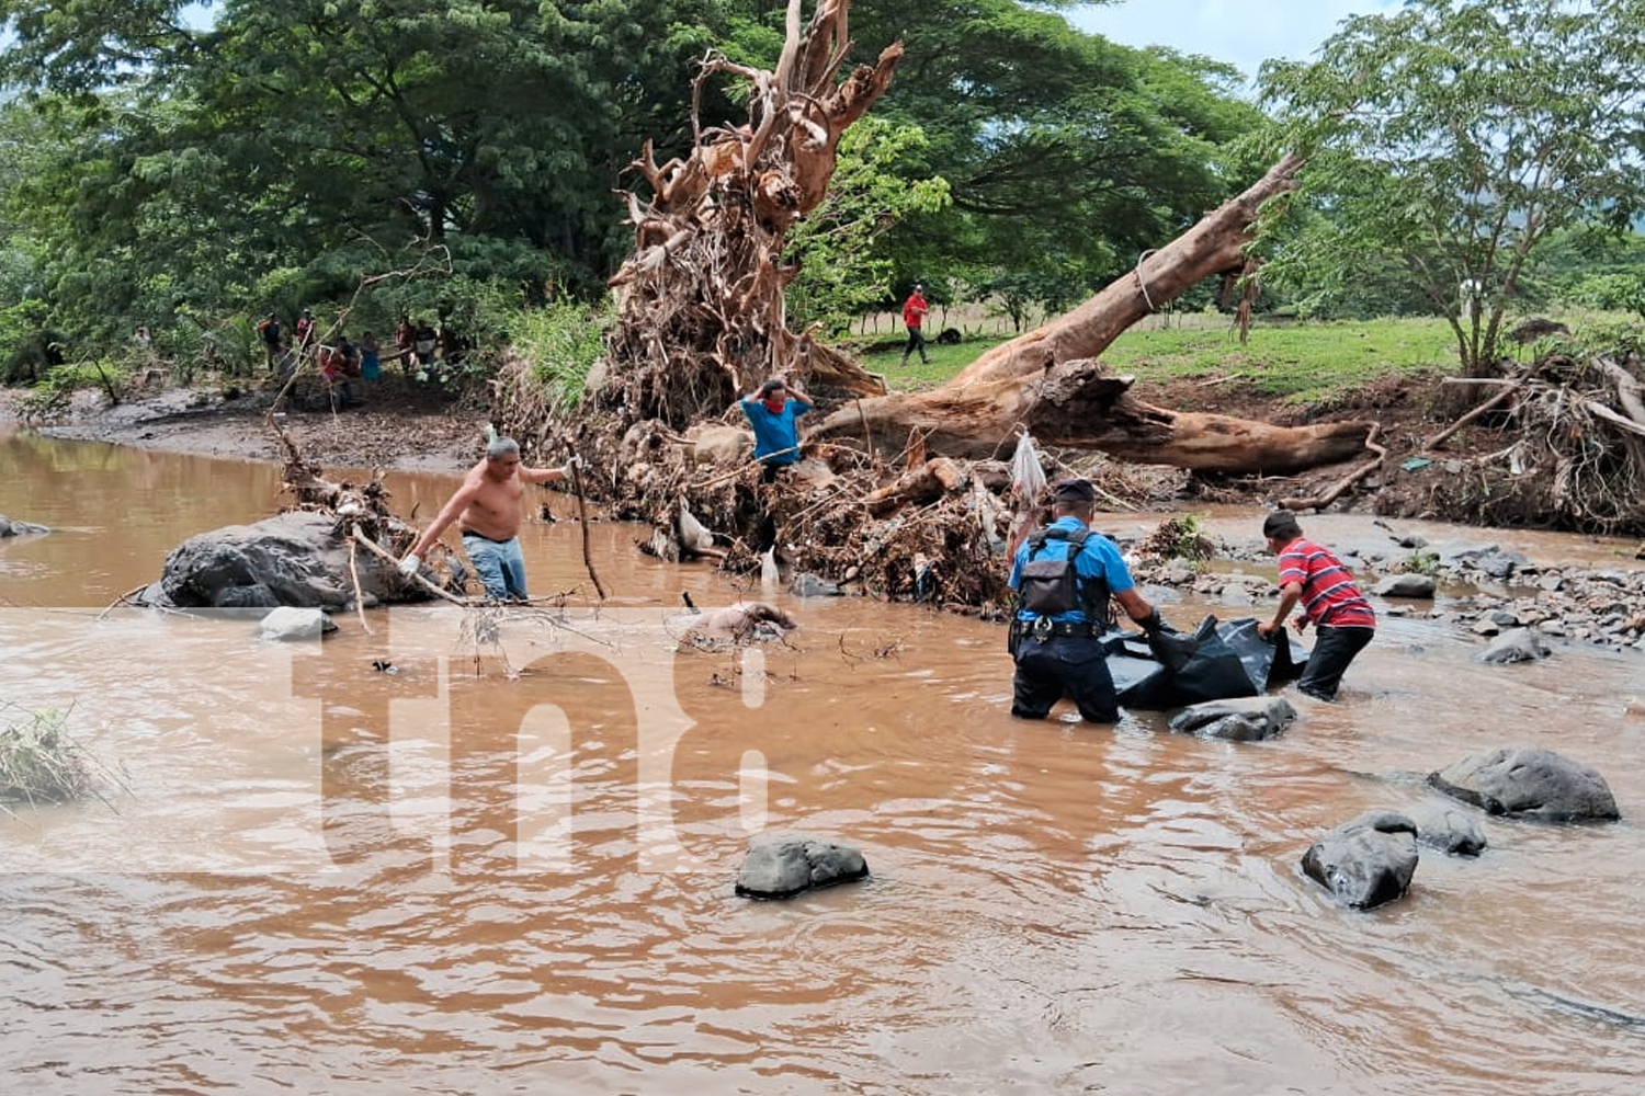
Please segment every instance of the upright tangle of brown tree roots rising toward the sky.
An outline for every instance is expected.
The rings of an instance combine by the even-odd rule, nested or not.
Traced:
[[[804,376],[818,393],[883,391],[846,355],[788,330],[783,314],[799,273],[783,263],[785,237],[827,196],[841,135],[885,94],[903,56],[893,43],[841,81],[849,7],[821,0],[801,26],[801,2],[790,0],[770,72],[709,58],[693,102],[706,81],[742,77],[747,123],[704,128],[694,113],[688,158],[660,166],[648,141],[635,161],[650,199],[628,194],[635,251],[610,283],[619,312],[595,408],[683,431],[773,373]]]

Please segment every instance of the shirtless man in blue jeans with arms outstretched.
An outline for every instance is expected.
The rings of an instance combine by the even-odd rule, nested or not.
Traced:
[[[410,578],[423,565],[423,552],[434,547],[452,521],[462,532],[462,550],[485,583],[494,601],[525,601],[525,557],[520,554],[520,521],[525,514],[526,483],[559,483],[571,478],[582,458],[572,455],[563,468],[526,468],[520,463],[520,442],[498,437],[485,447],[485,460],[469,468],[462,486],[441,508],[406,557],[400,573]]]

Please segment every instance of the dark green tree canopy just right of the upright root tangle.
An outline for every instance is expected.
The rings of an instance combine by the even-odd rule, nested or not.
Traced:
[[[906,58],[878,113],[929,138],[906,171],[941,176],[952,207],[887,233],[898,276],[961,273],[975,288],[1043,286],[1082,299],[1181,233],[1260,169],[1229,158],[1255,130],[1237,74],[1202,58],[1142,53],[1013,0],[864,0],[865,48],[898,35]]]

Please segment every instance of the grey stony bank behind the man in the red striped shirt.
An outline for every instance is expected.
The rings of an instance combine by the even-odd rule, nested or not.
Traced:
[[[1453,619],[1480,639],[1530,629],[1535,636],[1645,651],[1645,569],[1541,567],[1497,546],[1441,555],[1425,552],[1421,537],[1402,537],[1398,546],[1410,550],[1403,555],[1365,552],[1342,557],[1364,580],[1367,593],[1392,601],[1379,606],[1388,616],[1421,613],[1431,619]],[[1230,560],[1235,570],[1171,559],[1140,565],[1137,577],[1153,585],[1193,590],[1222,605],[1273,603],[1270,577],[1237,570],[1247,562],[1272,570],[1272,557],[1224,547],[1219,559]],[[1439,593],[1449,595],[1443,608],[1406,605],[1431,601]],[[1533,646],[1535,636],[1530,641]],[[1513,636],[1507,646],[1525,651],[1527,641]],[[1490,661],[1513,659],[1490,656]]]

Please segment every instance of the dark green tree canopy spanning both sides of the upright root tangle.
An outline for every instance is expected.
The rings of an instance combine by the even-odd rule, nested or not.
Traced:
[[[0,279],[76,342],[341,302],[429,256],[446,276],[382,283],[377,322],[484,286],[597,296],[630,243],[628,166],[646,140],[688,148],[697,64],[768,64],[786,10],[222,0],[191,26],[191,7],[0,0],[0,140],[26,143],[0,171]],[[1202,59],[1017,0],[933,0],[911,26],[890,0],[852,15],[849,62],[897,38],[908,62],[875,110],[887,148],[854,145],[854,189],[795,237],[806,315],[869,307],[911,271],[1074,299],[1250,174],[1226,150],[1253,108]],[[740,117],[732,82],[707,94],[704,118]]]

